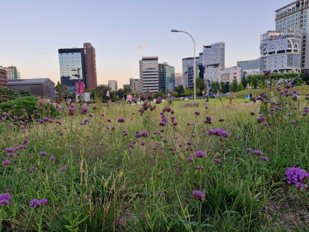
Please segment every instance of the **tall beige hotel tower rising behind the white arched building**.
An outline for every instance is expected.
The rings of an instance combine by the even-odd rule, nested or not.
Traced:
[[[307,19],[308,19],[309,1],[298,0],[276,10],[276,32],[288,30],[290,28],[301,29],[300,49],[300,68],[304,74],[309,74],[309,46],[306,49],[307,40]],[[308,28],[309,29],[309,28]],[[291,43],[296,41],[291,39]],[[300,47],[301,44],[301,47]],[[282,46],[282,45],[280,45]],[[307,50],[307,51],[306,51]]]

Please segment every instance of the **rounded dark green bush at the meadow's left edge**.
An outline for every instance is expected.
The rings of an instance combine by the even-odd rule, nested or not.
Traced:
[[[54,108],[53,105],[51,105],[50,103],[44,103],[43,101],[39,101],[39,99],[37,99],[36,97],[20,97],[16,100],[0,104],[0,109],[2,109],[2,113],[3,112],[9,113],[9,111],[11,111],[13,117],[15,116],[23,117],[27,112],[29,115],[33,114],[34,118],[40,118],[45,114],[46,115],[58,114],[56,108]],[[38,113],[40,114],[39,115],[35,114],[35,112],[33,112],[34,110],[37,110]],[[44,112],[44,110],[47,110],[47,112]],[[27,116],[25,116],[25,118],[26,117]]]

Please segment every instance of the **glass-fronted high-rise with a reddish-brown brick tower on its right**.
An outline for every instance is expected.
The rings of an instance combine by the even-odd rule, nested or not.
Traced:
[[[83,48],[63,48],[58,49],[60,79],[62,84],[66,84],[70,91],[75,92],[78,78],[73,76],[77,71],[72,69],[80,68],[80,81],[85,84],[86,89],[97,87],[97,74],[95,62],[95,48],[91,43],[84,43]]]

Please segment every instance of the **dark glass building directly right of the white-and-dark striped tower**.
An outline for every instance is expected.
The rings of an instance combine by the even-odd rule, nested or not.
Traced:
[[[166,62],[159,64],[159,90],[167,92],[175,89],[175,68]]]

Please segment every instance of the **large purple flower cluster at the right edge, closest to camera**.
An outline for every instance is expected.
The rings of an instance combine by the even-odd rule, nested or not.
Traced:
[[[307,179],[309,179],[309,174],[306,170],[298,168],[287,168],[285,174],[287,177],[284,178],[288,184],[295,184],[295,187],[299,187],[299,189],[303,189],[304,187],[308,187],[306,184]]]

